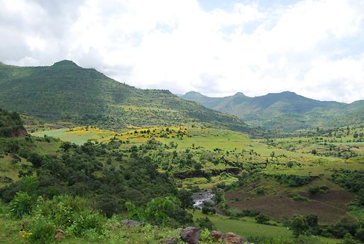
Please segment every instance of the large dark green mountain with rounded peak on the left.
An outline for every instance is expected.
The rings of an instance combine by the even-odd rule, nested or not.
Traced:
[[[170,91],[136,89],[72,61],[43,67],[0,63],[0,87],[0,107],[45,121],[112,129],[209,123],[250,130],[235,116],[183,100]]]

